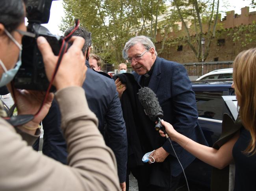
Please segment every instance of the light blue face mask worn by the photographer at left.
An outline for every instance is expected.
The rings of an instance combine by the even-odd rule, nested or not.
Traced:
[[[21,51],[22,51],[22,45],[20,45],[14,38],[13,36],[11,36],[11,34],[5,29],[4,30],[6,32],[6,35],[9,36],[9,38],[11,38],[11,40],[19,47],[20,49],[20,53],[19,53],[19,60],[16,63],[15,67],[12,69],[7,70],[4,63],[2,62],[2,60],[0,59],[0,65],[1,67],[4,69],[4,73],[2,74],[1,80],[0,80],[0,87],[8,84],[9,82],[11,82],[11,80],[13,80],[14,76],[16,75],[17,71],[20,68],[21,65]]]

